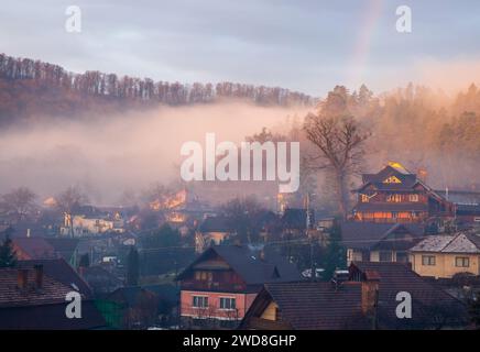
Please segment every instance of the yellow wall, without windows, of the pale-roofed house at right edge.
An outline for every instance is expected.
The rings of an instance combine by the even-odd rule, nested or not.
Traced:
[[[423,265],[423,255],[435,255],[435,265]],[[468,267],[459,267],[455,265],[456,257],[469,257],[470,265]],[[433,276],[450,278],[459,273],[472,273],[480,275],[480,255],[478,254],[456,254],[456,253],[411,253],[412,268],[421,276]]]

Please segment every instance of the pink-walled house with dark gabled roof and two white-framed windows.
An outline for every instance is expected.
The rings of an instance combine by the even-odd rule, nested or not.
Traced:
[[[177,280],[184,324],[234,327],[263,284],[298,282],[302,277],[272,249],[218,245],[205,251]]]

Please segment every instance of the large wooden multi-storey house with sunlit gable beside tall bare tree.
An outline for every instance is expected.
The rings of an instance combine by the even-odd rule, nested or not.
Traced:
[[[363,174],[356,190],[354,221],[436,222],[452,219],[454,205],[399,163]]]

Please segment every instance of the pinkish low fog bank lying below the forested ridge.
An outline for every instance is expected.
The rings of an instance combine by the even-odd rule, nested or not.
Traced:
[[[40,200],[79,185],[91,202],[116,205],[126,190],[179,177],[181,145],[240,142],[262,127],[282,130],[305,108],[258,107],[241,102],[168,108],[122,116],[89,117],[88,121],[42,120],[28,129],[0,132],[0,194],[19,186]]]

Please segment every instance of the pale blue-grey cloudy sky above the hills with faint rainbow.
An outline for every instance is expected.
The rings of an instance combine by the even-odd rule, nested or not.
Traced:
[[[480,80],[479,0],[2,1],[0,52],[182,82],[240,81],[314,96],[410,80]],[[65,10],[81,9],[81,33]],[[407,4],[413,32],[395,30]],[[452,79],[452,78],[451,78]],[[447,81],[449,85],[452,81]]]

